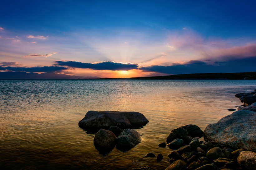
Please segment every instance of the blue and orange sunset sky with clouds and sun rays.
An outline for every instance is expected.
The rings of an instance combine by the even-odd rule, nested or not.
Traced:
[[[0,71],[102,78],[256,71],[255,1],[3,1]]]

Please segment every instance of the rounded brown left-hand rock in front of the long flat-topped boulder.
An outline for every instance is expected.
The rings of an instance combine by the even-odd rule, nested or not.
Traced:
[[[98,150],[111,150],[116,145],[116,136],[111,131],[100,129],[94,136],[93,143]]]

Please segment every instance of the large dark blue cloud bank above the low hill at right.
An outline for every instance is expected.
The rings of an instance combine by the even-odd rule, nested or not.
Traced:
[[[221,63],[221,65],[210,65],[201,61],[190,61],[185,64],[172,66],[150,66],[140,67],[143,72],[158,72],[165,74],[189,74],[189,73],[214,73],[214,72],[251,72],[256,71],[252,63],[256,63],[256,57],[234,59]]]

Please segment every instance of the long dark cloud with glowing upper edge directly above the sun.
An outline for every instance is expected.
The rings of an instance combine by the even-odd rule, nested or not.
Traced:
[[[124,64],[124,63],[117,63],[113,61],[106,61],[106,62],[99,62],[96,64],[91,64],[91,63],[84,63],[84,62],[73,62],[73,61],[68,61],[68,62],[63,62],[63,61],[56,61],[57,66],[68,66],[72,68],[89,68],[93,70],[132,70],[132,69],[138,69],[137,64]]]

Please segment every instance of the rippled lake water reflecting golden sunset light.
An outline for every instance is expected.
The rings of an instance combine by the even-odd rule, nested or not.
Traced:
[[[241,105],[234,94],[255,88],[256,80],[0,80],[0,169],[165,169],[171,150],[158,144],[172,129],[204,130]],[[136,130],[135,148],[101,155],[77,125],[89,110],[136,111],[150,122]]]

